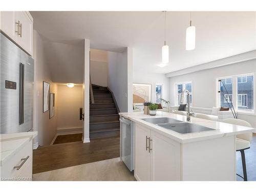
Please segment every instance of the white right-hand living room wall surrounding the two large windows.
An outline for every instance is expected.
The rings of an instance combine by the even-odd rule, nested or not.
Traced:
[[[217,105],[217,78],[230,75],[240,75],[246,73],[255,73],[256,60],[248,60],[232,65],[218,67],[189,73],[185,75],[175,76],[169,78],[170,84],[170,102],[175,105],[175,84],[179,82],[192,81],[193,82],[193,106],[202,108],[212,108]],[[255,78],[255,77],[254,77]],[[254,80],[255,82],[255,80]],[[255,83],[254,83],[255,90]],[[254,96],[255,98],[255,96]],[[255,100],[255,99],[254,99]],[[255,115],[238,114],[238,118],[244,119],[256,127]]]

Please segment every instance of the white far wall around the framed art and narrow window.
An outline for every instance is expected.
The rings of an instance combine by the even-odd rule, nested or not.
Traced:
[[[163,99],[169,100],[169,78],[165,74],[133,70],[133,83],[151,84],[151,101],[156,102],[156,83],[163,84]]]

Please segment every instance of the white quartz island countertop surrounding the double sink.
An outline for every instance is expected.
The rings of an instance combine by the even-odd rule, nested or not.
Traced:
[[[198,125],[206,126],[211,129],[215,129],[214,131],[200,132],[200,133],[189,133],[189,134],[179,134],[174,131],[165,129],[164,127],[158,126],[153,123],[146,122],[142,119],[144,118],[158,118],[158,117],[169,117],[180,121],[186,121],[186,116],[178,115],[173,113],[166,113],[157,111],[156,116],[144,115],[143,112],[129,112],[129,113],[119,113],[119,115],[124,118],[130,119],[136,123],[143,124],[149,129],[156,131],[164,136],[167,136],[171,139],[174,139],[180,143],[188,143],[188,142],[197,142],[206,139],[215,139],[220,137],[227,137],[232,135],[239,135],[244,133],[251,133],[255,129],[246,126],[234,125],[229,123],[223,123],[218,121],[211,121],[207,119],[200,119],[196,117],[190,117],[190,123],[195,123]]]

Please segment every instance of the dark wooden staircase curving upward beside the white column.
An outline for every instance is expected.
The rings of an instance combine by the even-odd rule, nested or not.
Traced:
[[[91,91],[93,94],[90,94],[90,138],[119,136],[119,109],[113,93],[108,88],[95,84],[92,84]]]

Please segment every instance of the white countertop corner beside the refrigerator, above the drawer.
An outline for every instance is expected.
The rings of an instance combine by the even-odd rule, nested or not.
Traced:
[[[37,132],[25,132],[25,133],[13,133],[13,134],[1,134],[0,145],[1,145],[1,160],[0,165],[2,166],[7,162],[13,155],[15,155],[20,148],[26,145],[29,141],[37,136]]]

